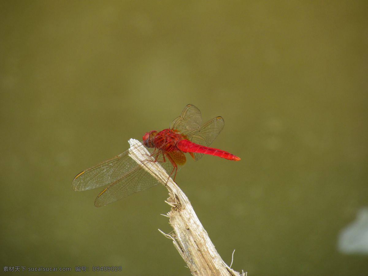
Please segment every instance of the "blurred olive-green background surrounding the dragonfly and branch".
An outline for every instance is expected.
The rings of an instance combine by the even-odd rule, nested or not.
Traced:
[[[95,208],[71,182],[193,104],[241,158],[176,178],[227,264],[367,275],[337,246],[368,205],[367,1],[1,1],[0,31],[0,274],[190,275],[162,185]]]

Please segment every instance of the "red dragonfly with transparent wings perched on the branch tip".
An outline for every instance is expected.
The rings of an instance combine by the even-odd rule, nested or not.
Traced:
[[[160,162],[167,173],[176,177],[176,173],[187,159],[189,153],[194,161],[204,154],[219,156],[229,160],[240,160],[224,150],[209,148],[224,127],[224,119],[216,117],[201,126],[201,112],[194,105],[185,106],[181,115],[173,120],[170,128],[160,132],[152,130],[143,135],[142,144],[150,150],[150,156],[143,162],[151,167]],[[109,184],[96,198],[95,206],[112,203],[132,193],[151,188],[159,184],[158,180],[145,171],[129,156],[129,149],[112,159],[103,161],[74,178],[72,188],[84,191]]]

